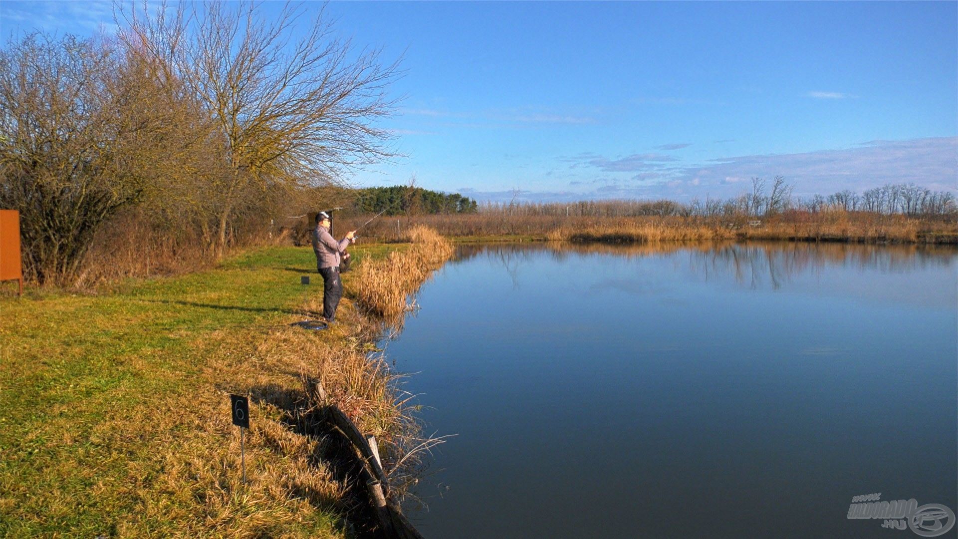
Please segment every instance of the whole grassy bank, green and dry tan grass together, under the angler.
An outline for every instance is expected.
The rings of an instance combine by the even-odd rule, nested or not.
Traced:
[[[354,246],[356,264],[396,248]],[[308,248],[270,247],[97,294],[0,298],[0,535],[349,536],[362,501],[297,432],[304,380],[387,453],[406,426],[367,359],[379,326],[352,299],[358,271],[331,330],[288,327],[321,308],[314,268]],[[251,397],[245,486],[229,393]]]

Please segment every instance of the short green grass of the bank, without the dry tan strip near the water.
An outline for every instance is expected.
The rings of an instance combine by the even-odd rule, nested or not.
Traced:
[[[361,259],[390,248],[352,250]],[[208,498],[170,484],[182,475],[170,468],[189,464],[177,452],[202,460],[228,440],[229,431],[197,428],[224,388],[239,383],[211,371],[211,358],[228,356],[231,340],[287,324],[303,304],[305,271],[308,292],[321,294],[311,249],[270,247],[215,270],[96,294],[0,297],[0,535],[342,535],[342,515],[330,507],[251,500],[227,470],[222,489],[234,520],[211,522]],[[221,414],[228,421],[228,406]],[[242,523],[258,511],[295,514]]]

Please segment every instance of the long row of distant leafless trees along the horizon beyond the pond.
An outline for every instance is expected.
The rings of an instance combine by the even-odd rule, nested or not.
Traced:
[[[771,217],[788,212],[820,213],[842,210],[909,217],[958,217],[954,194],[932,191],[913,183],[888,184],[861,194],[851,190],[808,199],[791,196],[792,186],[776,176],[766,190],[763,178],[752,179],[752,189],[731,199],[581,200],[576,202],[487,202],[479,212],[507,216],[568,217]]]

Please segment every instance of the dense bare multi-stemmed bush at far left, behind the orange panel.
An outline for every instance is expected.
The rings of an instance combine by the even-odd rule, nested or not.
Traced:
[[[171,139],[141,82],[103,39],[33,34],[0,51],[0,206],[20,211],[32,278],[75,274],[101,225],[148,192]]]

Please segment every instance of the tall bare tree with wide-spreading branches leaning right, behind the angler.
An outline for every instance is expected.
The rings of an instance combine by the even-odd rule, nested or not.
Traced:
[[[289,35],[303,9],[286,4],[265,20],[253,2],[122,10],[131,51],[169,66],[211,116],[228,173],[208,178],[217,246],[243,200],[270,189],[341,183],[344,172],[389,156],[373,121],[391,112],[385,89],[398,63],[354,54],[320,12]]]

